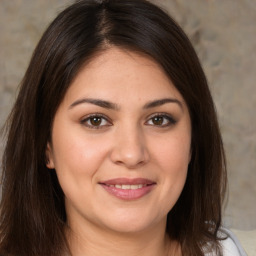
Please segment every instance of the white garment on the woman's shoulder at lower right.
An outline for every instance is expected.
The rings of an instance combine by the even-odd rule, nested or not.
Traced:
[[[230,230],[222,228],[221,236],[227,237],[221,241],[223,256],[246,256],[237,237]]]

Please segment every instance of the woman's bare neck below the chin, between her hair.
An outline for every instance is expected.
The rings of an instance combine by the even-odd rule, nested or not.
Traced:
[[[72,256],[180,255],[173,253],[178,246],[166,235],[165,223],[145,231],[129,233],[102,230],[92,224],[84,229],[71,226],[67,238]]]

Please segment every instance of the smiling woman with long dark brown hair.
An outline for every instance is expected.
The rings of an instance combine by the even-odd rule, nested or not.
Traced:
[[[1,254],[239,255],[220,229],[225,157],[205,75],[153,4],[60,13],[7,129]]]

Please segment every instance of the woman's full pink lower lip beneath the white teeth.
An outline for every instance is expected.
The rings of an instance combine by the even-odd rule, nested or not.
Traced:
[[[123,200],[139,199],[147,195],[155,187],[155,184],[152,184],[138,189],[121,189],[116,187],[110,187],[104,184],[100,185],[111,195]]]

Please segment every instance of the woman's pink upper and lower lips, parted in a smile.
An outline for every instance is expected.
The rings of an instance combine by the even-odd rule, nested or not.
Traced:
[[[127,179],[127,178],[117,178],[112,180],[106,180],[99,183],[108,193],[111,195],[123,199],[123,200],[136,200],[146,194],[148,194],[156,185],[156,182],[144,179]],[[110,185],[138,185],[142,184],[142,188],[138,189],[121,189],[116,187],[110,187]]]

